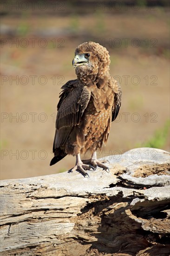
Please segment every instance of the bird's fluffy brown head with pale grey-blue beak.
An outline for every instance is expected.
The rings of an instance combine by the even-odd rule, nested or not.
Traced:
[[[109,70],[110,56],[105,47],[95,42],[79,45],[72,61],[78,79],[88,83],[103,77]]]

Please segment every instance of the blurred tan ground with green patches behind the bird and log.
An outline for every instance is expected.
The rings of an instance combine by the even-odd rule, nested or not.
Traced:
[[[75,48],[105,46],[121,84],[118,119],[98,157],[169,151],[169,1],[1,1],[1,179],[50,175],[61,86],[76,79]],[[88,155],[85,155],[87,158]]]

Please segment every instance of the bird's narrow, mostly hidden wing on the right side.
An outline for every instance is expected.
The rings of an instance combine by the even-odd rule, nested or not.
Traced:
[[[118,81],[116,81],[114,78],[112,78],[112,84],[113,84],[113,91],[114,91],[114,105],[112,108],[111,121],[114,121],[118,116],[119,108],[121,106],[122,91]]]

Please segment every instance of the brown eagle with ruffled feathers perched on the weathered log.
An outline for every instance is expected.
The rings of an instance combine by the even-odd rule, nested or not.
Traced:
[[[120,85],[109,73],[109,52],[98,43],[82,43],[75,50],[72,65],[77,79],[61,87],[50,165],[69,154],[76,156],[72,171],[88,175],[86,170],[97,166],[109,171],[96,154],[107,142],[111,122],[121,106]],[[92,154],[91,159],[81,161],[80,154],[87,151]]]

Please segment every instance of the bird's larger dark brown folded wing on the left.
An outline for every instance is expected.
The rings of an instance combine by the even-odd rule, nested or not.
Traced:
[[[72,128],[79,124],[91,96],[89,89],[85,86],[80,86],[78,80],[68,81],[62,86],[62,89],[57,106],[58,113],[53,152],[56,148],[65,144]]]

